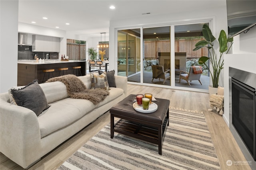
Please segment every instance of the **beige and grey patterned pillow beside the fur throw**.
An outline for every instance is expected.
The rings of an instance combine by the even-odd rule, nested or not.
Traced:
[[[93,89],[101,88],[101,89],[109,90],[108,78],[107,78],[106,72],[103,72],[101,75],[99,73],[90,72],[90,77],[91,77],[91,88]]]

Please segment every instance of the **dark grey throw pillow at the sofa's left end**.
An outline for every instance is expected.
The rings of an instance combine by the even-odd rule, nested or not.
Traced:
[[[11,94],[18,106],[34,111],[37,116],[50,107],[37,80],[18,90],[11,89]]]

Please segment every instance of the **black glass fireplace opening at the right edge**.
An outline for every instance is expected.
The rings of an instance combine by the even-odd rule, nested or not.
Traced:
[[[256,160],[255,88],[231,78],[232,125]]]

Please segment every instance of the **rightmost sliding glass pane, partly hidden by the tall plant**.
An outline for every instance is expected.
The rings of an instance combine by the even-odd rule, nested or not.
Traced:
[[[200,65],[198,59],[201,56],[208,56],[206,48],[193,51],[197,42],[204,40],[202,35],[202,25],[204,23],[188,24],[188,25],[175,25],[175,86],[184,88],[198,88],[208,90],[210,84],[210,76],[206,66]],[[200,74],[200,83],[197,79],[193,78],[193,72],[190,70],[193,66],[202,66],[203,73]],[[180,78],[181,73],[190,73],[189,83]],[[192,72],[192,73],[191,73]],[[195,75],[196,76],[196,75]],[[196,76],[198,77],[198,76]],[[190,81],[191,80],[191,81]]]

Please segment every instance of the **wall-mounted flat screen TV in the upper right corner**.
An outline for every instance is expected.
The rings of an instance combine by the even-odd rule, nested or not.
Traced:
[[[228,37],[256,25],[256,0],[227,0]]]

